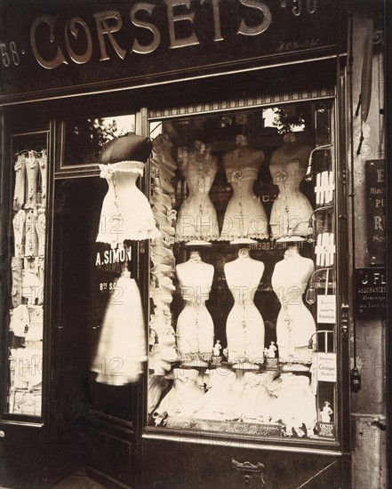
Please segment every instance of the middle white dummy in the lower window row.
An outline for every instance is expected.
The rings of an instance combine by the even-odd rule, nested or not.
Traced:
[[[226,263],[224,270],[235,301],[226,324],[228,361],[235,368],[257,369],[255,364],[264,361],[264,322],[253,297],[264,273],[264,263],[253,260],[249,250],[241,248],[238,258]]]

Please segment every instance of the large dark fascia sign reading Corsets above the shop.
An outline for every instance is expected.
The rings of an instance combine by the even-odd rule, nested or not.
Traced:
[[[304,59],[336,53],[345,38],[337,0],[61,0],[23,8],[8,0],[0,15],[4,100]]]

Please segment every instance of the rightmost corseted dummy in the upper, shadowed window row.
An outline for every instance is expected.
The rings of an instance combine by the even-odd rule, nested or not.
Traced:
[[[308,198],[300,191],[312,148],[296,142],[292,132],[284,134],[284,145],[271,156],[269,172],[279,188],[271,209],[269,224],[272,237],[307,236],[313,212]]]

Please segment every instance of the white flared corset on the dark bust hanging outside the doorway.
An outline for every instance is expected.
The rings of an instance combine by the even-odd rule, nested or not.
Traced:
[[[108,180],[108,193],[100,212],[97,242],[113,247],[124,240],[141,240],[160,236],[148,199],[136,187],[144,163],[124,161],[100,164],[100,178]]]

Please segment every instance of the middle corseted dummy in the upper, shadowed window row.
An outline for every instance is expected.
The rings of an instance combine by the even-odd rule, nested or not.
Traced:
[[[253,193],[264,153],[250,148],[246,136],[236,137],[236,149],[223,156],[233,195],[228,202],[220,238],[234,241],[244,238],[267,238],[268,220],[263,205]]]

